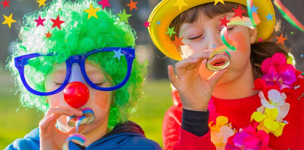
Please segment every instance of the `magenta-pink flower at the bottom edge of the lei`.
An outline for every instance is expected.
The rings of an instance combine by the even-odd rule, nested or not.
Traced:
[[[255,131],[258,122],[255,122],[254,127],[247,126],[241,132],[235,133],[228,138],[225,150],[270,150],[267,146],[269,135],[263,131]]]

